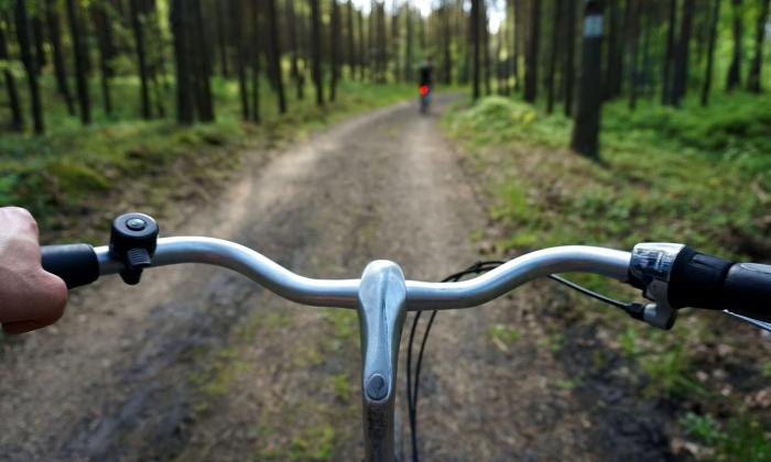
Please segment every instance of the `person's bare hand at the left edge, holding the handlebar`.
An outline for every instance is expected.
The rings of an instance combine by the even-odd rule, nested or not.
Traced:
[[[0,323],[6,333],[50,326],[64,314],[67,287],[41,266],[37,223],[29,211],[0,208]]]

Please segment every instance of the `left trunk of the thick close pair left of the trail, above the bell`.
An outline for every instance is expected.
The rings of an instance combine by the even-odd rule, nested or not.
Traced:
[[[183,125],[194,121],[193,85],[188,50],[189,33],[187,0],[172,0],[170,23],[174,36],[174,61],[176,64],[176,120]]]

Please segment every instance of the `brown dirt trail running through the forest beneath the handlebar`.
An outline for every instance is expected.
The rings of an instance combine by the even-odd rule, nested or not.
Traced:
[[[253,162],[217,205],[162,232],[235,240],[308,276],[357,277],[389,258],[408,278],[439,279],[478,258],[469,237],[486,223],[437,132],[446,100],[430,117],[374,111]],[[148,276],[82,290],[56,328],[0,360],[0,459],[357,460],[352,312],[298,307],[216,268]],[[613,440],[591,421],[602,397],[555,386],[572,375],[534,316],[551,302],[525,288],[439,314],[422,376],[424,460],[593,460],[615,444],[609,459],[665,457],[638,438],[648,427]],[[524,336],[493,342],[496,323]]]

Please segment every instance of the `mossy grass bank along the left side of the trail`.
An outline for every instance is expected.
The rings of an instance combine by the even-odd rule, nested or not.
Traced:
[[[46,134],[0,136],[0,206],[30,209],[44,239],[99,241],[106,228],[97,227],[98,234],[88,232],[95,220],[107,223],[127,208],[162,213],[174,202],[209,200],[240,165],[242,152],[264,152],[359,111],[403,100],[413,90],[343,81],[337,101],[323,108],[315,106],[312,88],[302,101],[290,90],[290,111],[279,114],[275,97],[263,82],[262,122],[253,125],[240,120],[237,84],[216,78],[217,120],[184,128],[172,116],[141,120],[138,81],[117,78],[116,111],[107,116],[99,109],[95,87],[94,123],[82,127],[58,101],[53,79],[42,82]],[[163,99],[167,113],[172,97],[169,91]]]

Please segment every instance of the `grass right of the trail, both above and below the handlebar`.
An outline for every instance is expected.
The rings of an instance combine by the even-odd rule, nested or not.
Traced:
[[[709,108],[688,100],[681,110],[643,101],[630,112],[626,101],[608,103],[599,162],[566,147],[571,120],[513,99],[460,101],[443,127],[465,147],[461,161],[479,177],[489,215],[506,231],[496,248],[507,253],[660,241],[737,261],[771,261],[769,96],[716,95]],[[599,276],[571,277],[617,298],[640,297]],[[669,403],[682,431],[713,448],[716,460],[771,459],[771,413],[739,408],[743,396],[730,391],[730,374],[709,374],[730,367],[715,359],[726,344],[742,352],[728,359],[749,374],[734,383],[771,375],[771,348],[759,332],[688,311],[674,331],[662,332],[575,296],[568,305],[560,316],[609,331],[611,348],[637,364],[632,376],[645,384],[641,398]],[[539,344],[562,348],[549,339]],[[708,378],[698,380],[705,371]],[[687,414],[694,408],[713,420]]]

